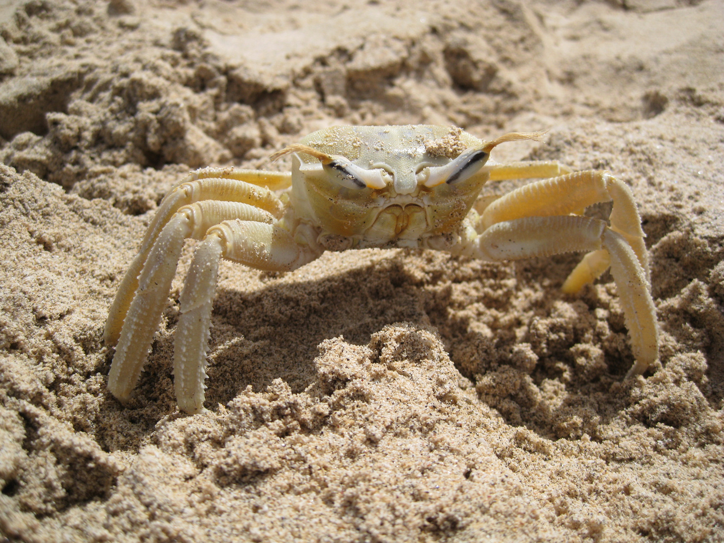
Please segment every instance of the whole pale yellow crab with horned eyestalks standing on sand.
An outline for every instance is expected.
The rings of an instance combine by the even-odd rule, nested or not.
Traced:
[[[641,374],[658,355],[644,232],[628,186],[608,172],[555,161],[496,164],[501,143],[542,140],[513,132],[482,141],[431,125],[335,126],[274,153],[291,172],[198,169],[174,185],[148,227],[106,321],[115,345],[108,387],[131,396],[167,305],[185,239],[200,240],[180,295],[174,389],[181,411],[205,411],[206,353],[219,260],[291,271],[324,251],[427,248],[505,261],[586,252],[563,283],[575,293],[610,268]],[[479,199],[489,180],[539,179]],[[587,206],[613,201],[607,221]]]

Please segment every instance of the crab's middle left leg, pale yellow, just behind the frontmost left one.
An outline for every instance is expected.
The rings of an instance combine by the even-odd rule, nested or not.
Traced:
[[[274,222],[274,216],[268,211],[247,203],[206,200],[182,206],[156,237],[128,304],[111,364],[108,387],[119,400],[127,400],[143,369],[166,306],[184,240],[201,239],[214,224],[234,218]]]

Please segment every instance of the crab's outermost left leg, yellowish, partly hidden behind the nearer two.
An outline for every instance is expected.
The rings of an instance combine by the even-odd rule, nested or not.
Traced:
[[[138,275],[148,258],[153,244],[172,216],[182,207],[196,201],[225,200],[243,202],[269,211],[279,218],[283,205],[269,188],[258,185],[271,185],[276,189],[288,185],[290,175],[281,172],[259,172],[256,170],[238,170],[206,168],[191,172],[178,183],[164,198],[153,216],[151,226],[146,230],[138,254],[133,259],[118,288],[116,298],[109,310],[104,331],[106,345],[116,345],[122,324],[131,300],[138,289]],[[230,218],[230,217],[227,217]]]

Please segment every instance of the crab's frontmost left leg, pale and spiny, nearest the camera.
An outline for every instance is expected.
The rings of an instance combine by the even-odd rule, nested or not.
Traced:
[[[209,229],[196,248],[180,297],[181,316],[174,342],[174,387],[182,411],[190,414],[203,411],[206,353],[219,260],[227,258],[255,269],[290,271],[319,254],[308,245],[298,245],[290,232],[276,224],[235,220]]]

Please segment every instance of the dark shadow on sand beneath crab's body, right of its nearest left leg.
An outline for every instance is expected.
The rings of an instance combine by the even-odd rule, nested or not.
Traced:
[[[391,256],[311,281],[272,274],[260,290],[220,289],[207,405],[225,404],[250,385],[264,391],[279,378],[302,392],[316,382],[314,359],[324,340],[367,345],[387,324],[429,324],[418,287],[408,279],[400,259]]]

